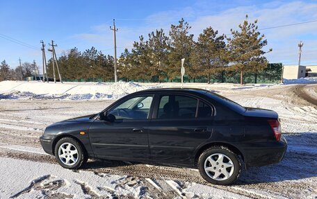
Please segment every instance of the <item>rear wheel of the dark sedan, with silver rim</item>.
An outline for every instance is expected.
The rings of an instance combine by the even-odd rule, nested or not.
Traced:
[[[212,184],[232,184],[241,173],[238,155],[225,146],[213,146],[204,150],[197,166],[202,178]]]

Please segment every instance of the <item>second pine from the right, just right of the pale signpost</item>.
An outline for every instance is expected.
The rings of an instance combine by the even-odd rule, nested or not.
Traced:
[[[206,76],[208,83],[211,75],[222,71],[226,64],[224,36],[217,35],[218,31],[211,27],[204,29],[195,42],[195,53],[190,55],[195,77]]]

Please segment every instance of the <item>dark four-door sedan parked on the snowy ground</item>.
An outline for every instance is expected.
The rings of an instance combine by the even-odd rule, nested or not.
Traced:
[[[213,184],[231,184],[245,168],[280,162],[286,153],[278,115],[243,107],[202,89],[149,89],[99,114],[48,126],[44,150],[65,168],[88,157],[198,167]]]

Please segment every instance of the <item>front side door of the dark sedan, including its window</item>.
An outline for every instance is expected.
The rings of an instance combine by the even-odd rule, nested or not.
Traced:
[[[92,150],[97,157],[147,159],[147,126],[152,94],[124,98],[107,110],[115,121],[96,119],[89,129]]]

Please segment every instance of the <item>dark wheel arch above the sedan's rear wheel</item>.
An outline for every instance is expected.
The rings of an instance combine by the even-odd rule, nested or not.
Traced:
[[[228,144],[228,143],[221,142],[221,141],[220,142],[211,142],[211,143],[204,144],[203,146],[201,146],[195,153],[194,164],[197,165],[198,158],[204,152],[204,150],[206,150],[207,148],[211,148],[213,146],[225,146],[225,147],[229,148],[229,150],[231,150],[232,152],[236,153],[236,155],[241,157],[241,159],[243,160],[243,162],[245,164],[245,157],[244,157],[243,153],[241,152],[241,150],[239,150],[236,146],[233,146],[232,144]]]

